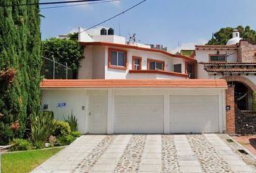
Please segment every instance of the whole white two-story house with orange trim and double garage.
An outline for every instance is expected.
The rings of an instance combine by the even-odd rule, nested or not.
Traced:
[[[41,83],[42,110],[73,112],[82,133],[223,133],[223,79],[192,79],[195,57],[174,55],[114,30],[79,30],[85,58],[78,79]]]

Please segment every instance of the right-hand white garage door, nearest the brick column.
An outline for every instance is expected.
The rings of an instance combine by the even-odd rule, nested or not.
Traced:
[[[218,133],[218,96],[170,98],[171,133]]]

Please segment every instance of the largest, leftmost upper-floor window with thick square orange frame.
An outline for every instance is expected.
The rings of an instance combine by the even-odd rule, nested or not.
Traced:
[[[108,49],[108,68],[127,69],[127,51]]]

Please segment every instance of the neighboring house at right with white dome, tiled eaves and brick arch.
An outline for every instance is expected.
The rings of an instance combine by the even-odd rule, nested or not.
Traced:
[[[256,45],[234,30],[226,45],[196,45],[198,79],[226,79],[234,86],[237,107],[253,110],[256,90]]]

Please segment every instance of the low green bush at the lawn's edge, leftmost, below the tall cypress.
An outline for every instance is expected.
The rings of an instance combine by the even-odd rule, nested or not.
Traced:
[[[14,138],[14,140],[10,144],[14,144],[14,146],[9,148],[9,151],[30,150],[33,146],[31,141],[22,138]]]

